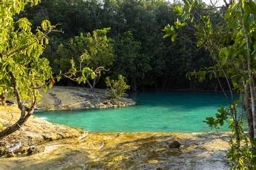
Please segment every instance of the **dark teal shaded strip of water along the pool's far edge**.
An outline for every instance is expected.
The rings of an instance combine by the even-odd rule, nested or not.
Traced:
[[[230,96],[230,95],[228,95]],[[239,95],[234,95],[235,100]],[[227,105],[227,98],[223,93],[208,91],[147,91],[147,92],[130,92],[129,98],[136,101],[138,105],[148,106],[169,106],[169,105],[186,105],[193,109],[201,107],[217,107]],[[187,108],[186,107],[186,108]]]

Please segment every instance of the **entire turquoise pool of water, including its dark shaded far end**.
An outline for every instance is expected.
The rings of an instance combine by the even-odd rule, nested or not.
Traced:
[[[214,116],[221,104],[227,105],[223,93],[213,92],[141,92],[131,93],[137,102],[126,108],[45,111],[37,117],[50,122],[82,127],[98,132],[209,132],[203,123]],[[228,131],[224,126],[220,131]]]

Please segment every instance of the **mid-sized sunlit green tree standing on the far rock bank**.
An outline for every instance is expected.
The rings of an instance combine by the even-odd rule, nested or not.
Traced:
[[[84,61],[84,65],[77,65],[76,67],[90,67],[96,69],[98,67],[107,68],[112,65],[114,59],[113,47],[111,39],[106,37],[110,29],[96,30],[93,34],[87,33],[84,36],[71,38],[68,43],[60,44],[57,55],[59,59],[55,62],[58,63],[61,70],[65,71],[66,65],[71,58],[77,58]],[[92,90],[98,83],[100,75],[93,77],[92,82],[86,80],[87,84]]]

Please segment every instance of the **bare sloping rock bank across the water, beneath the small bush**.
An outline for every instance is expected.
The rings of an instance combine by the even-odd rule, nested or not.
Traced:
[[[105,89],[91,91],[82,87],[53,86],[47,93],[41,91],[43,97],[38,103],[39,110],[80,110],[129,107],[136,104],[130,98],[119,97],[113,100],[105,94]]]

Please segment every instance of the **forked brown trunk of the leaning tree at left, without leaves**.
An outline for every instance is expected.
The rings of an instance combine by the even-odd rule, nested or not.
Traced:
[[[26,109],[25,109],[24,105],[22,104],[21,97],[19,95],[19,89],[18,89],[16,77],[15,77],[14,73],[12,73],[12,72],[9,72],[9,74],[11,76],[12,83],[14,84],[14,93],[15,93],[15,97],[16,97],[16,100],[18,103],[18,108],[19,108],[19,110],[21,110],[21,117],[19,117],[18,121],[15,124],[9,126],[8,128],[4,129],[3,131],[1,131],[0,138],[4,138],[4,137],[8,136],[9,134],[14,133],[15,131],[21,129],[21,126],[33,114],[35,107],[36,107],[36,101],[37,101],[37,97],[36,97],[35,93],[33,93],[33,95],[34,95],[33,102],[31,104],[30,109],[28,109],[28,114],[26,114]]]

